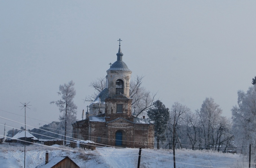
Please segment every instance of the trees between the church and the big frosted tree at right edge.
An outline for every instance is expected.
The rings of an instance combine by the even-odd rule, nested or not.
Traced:
[[[175,102],[170,110],[161,101],[154,102],[148,118],[156,124],[157,148],[214,149],[233,148],[232,122],[221,116],[213,98],[206,98],[200,110]]]

